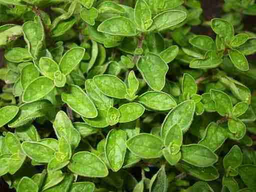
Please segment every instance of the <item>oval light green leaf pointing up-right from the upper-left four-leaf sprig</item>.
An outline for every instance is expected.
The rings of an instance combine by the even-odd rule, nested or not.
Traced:
[[[64,74],[69,74],[81,61],[85,49],[82,47],[73,47],[65,52],[59,62],[59,69]]]

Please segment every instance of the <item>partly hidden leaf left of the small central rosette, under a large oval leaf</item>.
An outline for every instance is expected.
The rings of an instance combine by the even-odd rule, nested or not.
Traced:
[[[90,126],[99,127],[99,128],[103,128],[109,125],[106,121],[106,118],[107,118],[107,111],[102,109],[98,109],[98,115],[95,118],[85,118],[82,116],[82,119],[84,120],[85,123],[87,123]]]

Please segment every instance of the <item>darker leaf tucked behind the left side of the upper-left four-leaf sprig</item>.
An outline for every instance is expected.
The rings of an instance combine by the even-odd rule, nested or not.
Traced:
[[[39,77],[40,72],[33,63],[28,62],[20,72],[20,82],[22,88],[26,88],[33,80]]]

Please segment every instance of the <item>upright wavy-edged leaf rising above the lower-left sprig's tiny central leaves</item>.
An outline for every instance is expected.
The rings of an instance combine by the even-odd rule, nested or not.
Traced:
[[[72,150],[75,149],[80,142],[80,134],[73,127],[71,120],[62,110],[58,111],[53,122],[53,128],[58,138],[64,136],[71,144]]]

